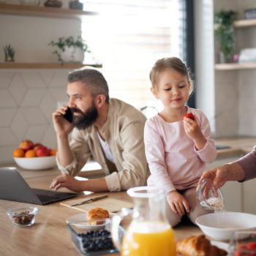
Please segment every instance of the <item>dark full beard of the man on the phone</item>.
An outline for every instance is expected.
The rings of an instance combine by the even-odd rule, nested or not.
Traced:
[[[73,121],[72,123],[77,127],[78,129],[86,129],[91,126],[91,124],[96,121],[96,119],[99,116],[98,110],[94,104],[94,102],[91,103],[91,107],[86,110],[86,112],[83,112],[79,108],[70,108],[72,111]],[[80,113],[79,116],[74,116],[74,113]]]

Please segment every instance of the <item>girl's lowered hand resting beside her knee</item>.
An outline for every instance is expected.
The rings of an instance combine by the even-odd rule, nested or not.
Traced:
[[[182,216],[190,211],[189,201],[176,190],[168,193],[167,202],[175,214]]]

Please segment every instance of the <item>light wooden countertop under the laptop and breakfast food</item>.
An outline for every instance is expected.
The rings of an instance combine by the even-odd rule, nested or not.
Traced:
[[[20,170],[20,174],[25,177],[30,187],[41,189],[49,188],[56,173],[59,173],[59,170]],[[65,191],[65,189],[61,190]],[[80,195],[79,197],[84,196]],[[131,200],[126,192],[109,193],[109,196],[121,200]],[[39,214],[34,225],[14,227],[7,217],[6,211],[10,208],[30,205],[29,203],[0,200],[0,255],[80,255],[72,244],[66,225],[67,217],[79,214],[80,211],[61,206],[60,203],[39,206]],[[174,230],[177,240],[201,234],[200,229],[192,224],[179,225]]]

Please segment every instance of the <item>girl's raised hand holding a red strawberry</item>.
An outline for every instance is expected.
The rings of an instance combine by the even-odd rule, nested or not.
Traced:
[[[197,150],[202,149],[206,145],[206,138],[203,136],[203,133],[200,130],[200,127],[195,120],[192,120],[191,118],[184,117],[183,118],[183,124],[184,124],[184,130],[191,138],[194,140],[195,147]]]

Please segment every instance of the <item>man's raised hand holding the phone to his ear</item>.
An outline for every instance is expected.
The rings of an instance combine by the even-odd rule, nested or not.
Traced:
[[[69,123],[69,121],[67,121],[63,116],[64,113],[66,113],[67,108],[67,106],[62,106],[53,112],[53,125],[55,132],[59,137],[69,135],[69,132],[74,128],[74,125]]]

